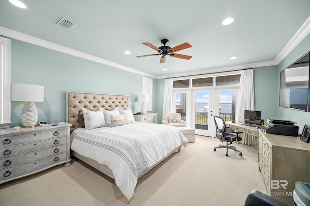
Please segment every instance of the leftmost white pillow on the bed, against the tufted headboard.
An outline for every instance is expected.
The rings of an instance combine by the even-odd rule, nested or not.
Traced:
[[[103,115],[103,109],[100,108],[96,112],[85,108],[82,108],[85,129],[91,130],[97,127],[106,126],[105,117]]]

